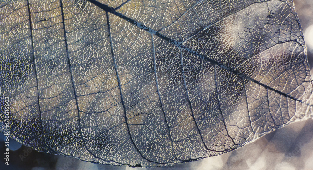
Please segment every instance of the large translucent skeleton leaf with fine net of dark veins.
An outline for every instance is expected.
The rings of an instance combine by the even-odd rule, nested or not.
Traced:
[[[1,131],[37,151],[168,166],[311,117],[291,0],[15,0],[0,17]]]

